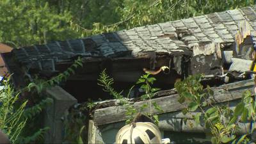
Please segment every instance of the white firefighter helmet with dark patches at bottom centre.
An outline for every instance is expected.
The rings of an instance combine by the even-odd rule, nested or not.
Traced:
[[[162,143],[161,138],[159,129],[151,122],[132,122],[117,132],[115,143]]]

